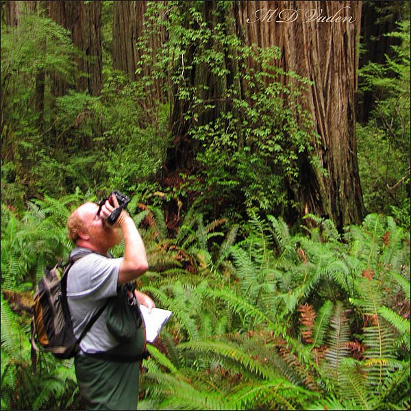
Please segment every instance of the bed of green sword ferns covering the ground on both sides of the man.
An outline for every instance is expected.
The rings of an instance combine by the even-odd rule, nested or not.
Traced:
[[[79,201],[77,192],[35,201],[21,216],[3,210],[2,288],[35,284],[27,270],[37,276],[69,251],[65,221]],[[172,236],[160,209],[139,212],[137,202],[130,211],[150,262],[140,290],[173,311],[149,345],[145,407],[379,410],[409,402],[410,239],[392,217],[370,214],[340,236],[331,221],[307,216],[311,228],[292,234],[281,219],[250,210],[238,240],[238,227],[194,211]],[[36,409],[81,407],[70,362],[42,356],[42,378],[29,371],[29,317],[16,319],[10,307],[2,297],[4,408],[17,389]]]

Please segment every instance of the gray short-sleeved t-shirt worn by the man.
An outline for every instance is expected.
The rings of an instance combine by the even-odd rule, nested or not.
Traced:
[[[86,250],[76,247],[71,256],[75,257]],[[71,266],[67,277],[67,300],[76,338],[79,338],[92,316],[104,306],[107,299],[116,295],[122,260],[123,258],[109,258],[90,253],[79,258]],[[80,342],[82,351],[108,351],[119,344],[108,331],[105,319],[106,310]]]

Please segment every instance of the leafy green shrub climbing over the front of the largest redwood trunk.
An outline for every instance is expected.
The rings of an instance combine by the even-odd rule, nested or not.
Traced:
[[[275,67],[279,48],[242,46],[228,17],[232,5],[213,3],[208,17],[203,8],[201,1],[151,3],[139,45],[147,50],[161,27],[169,33],[156,58],[147,51],[140,64],[152,68],[147,82],[163,79],[166,91],[176,90],[176,138],[195,153],[190,190],[201,199],[199,210],[216,218],[217,208],[234,216],[253,206],[293,206],[285,188],[297,186],[299,158],[316,139],[297,103],[309,82]],[[292,87],[282,85],[284,77]]]

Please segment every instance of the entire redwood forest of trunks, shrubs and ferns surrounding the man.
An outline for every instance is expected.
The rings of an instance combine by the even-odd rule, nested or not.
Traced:
[[[1,409],[82,408],[29,307],[114,189],[174,313],[140,409],[410,407],[410,3],[1,1],[0,127]]]

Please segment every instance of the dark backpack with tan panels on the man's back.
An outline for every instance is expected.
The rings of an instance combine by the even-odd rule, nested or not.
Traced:
[[[46,352],[51,352],[56,358],[72,358],[79,352],[79,343],[88,330],[97,321],[105,306],[92,317],[79,338],[75,338],[66,288],[67,274],[74,262],[92,253],[84,251],[74,258],[69,258],[66,264],[59,262],[53,269],[45,269],[45,274],[38,282],[32,305],[32,362],[35,369],[36,351],[42,346]]]

